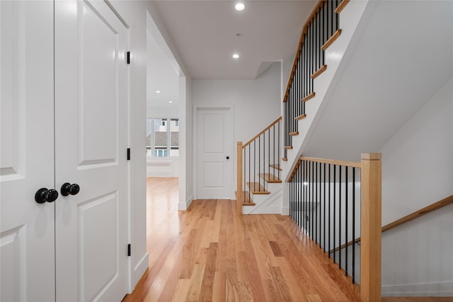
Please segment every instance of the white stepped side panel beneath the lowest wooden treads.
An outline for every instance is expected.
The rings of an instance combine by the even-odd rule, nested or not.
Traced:
[[[242,214],[281,214],[282,213],[282,184],[279,182],[266,183],[270,194],[252,194],[254,206],[243,206]]]

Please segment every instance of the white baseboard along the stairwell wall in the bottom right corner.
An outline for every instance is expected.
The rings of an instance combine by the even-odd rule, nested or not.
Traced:
[[[382,296],[453,296],[453,281],[383,285]]]

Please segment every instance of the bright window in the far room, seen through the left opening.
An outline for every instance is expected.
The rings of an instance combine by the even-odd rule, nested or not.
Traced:
[[[147,119],[147,156],[179,156],[178,119]]]

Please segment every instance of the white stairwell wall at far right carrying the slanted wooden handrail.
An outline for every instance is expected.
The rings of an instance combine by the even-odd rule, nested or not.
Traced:
[[[382,224],[453,194],[453,79],[381,149]],[[382,236],[383,294],[453,296],[453,207]]]

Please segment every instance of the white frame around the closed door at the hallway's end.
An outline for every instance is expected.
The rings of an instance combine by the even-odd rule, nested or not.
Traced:
[[[231,161],[230,165],[233,165],[233,167],[230,168],[230,188],[229,188],[229,198],[231,200],[236,199],[235,194],[234,194],[234,163],[236,162],[236,153],[234,152],[234,105],[227,105],[227,106],[216,106],[216,105],[194,105],[193,106],[193,196],[194,199],[198,198],[198,165],[197,161],[199,156],[199,148],[198,148],[198,121],[197,121],[197,112],[198,110],[203,110],[203,109],[226,109],[229,110],[229,131],[231,132],[231,137],[230,137],[230,148],[231,148]]]

